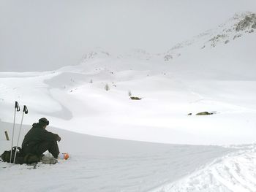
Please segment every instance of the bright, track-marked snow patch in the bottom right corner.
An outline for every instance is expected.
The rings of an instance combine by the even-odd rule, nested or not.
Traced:
[[[203,169],[151,192],[169,191],[256,191],[256,145],[217,158]]]

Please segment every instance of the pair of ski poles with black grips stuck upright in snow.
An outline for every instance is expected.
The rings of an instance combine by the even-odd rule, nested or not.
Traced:
[[[14,132],[15,132],[15,120],[16,120],[16,112],[20,111],[20,105],[18,104],[18,101],[15,101],[15,111],[14,111],[14,120],[13,120],[13,127],[12,127],[12,147],[13,147],[13,137],[14,137]],[[24,114],[28,114],[28,108],[26,107],[26,105],[23,106],[23,115],[21,118],[21,123],[20,123],[20,131],[18,134],[18,141],[17,141],[17,145],[16,145],[16,150],[15,150],[15,155],[14,155],[14,159],[12,162],[12,147],[11,147],[11,154],[10,154],[10,163],[15,163],[15,159],[16,159],[16,155],[17,155],[17,148],[18,148],[18,143],[20,141],[20,132],[21,132],[21,128],[22,128],[22,123],[23,123],[23,118],[24,118]]]

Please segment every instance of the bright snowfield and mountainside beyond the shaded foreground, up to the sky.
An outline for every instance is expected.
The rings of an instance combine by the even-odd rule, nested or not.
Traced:
[[[251,143],[256,134],[255,39],[255,14],[245,12],[167,53],[120,55],[97,49],[82,64],[55,72],[1,72],[0,116],[12,122],[13,103],[20,101],[29,107],[26,124],[45,116],[52,126],[102,137]],[[129,99],[129,91],[142,99]],[[195,116],[203,111],[214,115]]]

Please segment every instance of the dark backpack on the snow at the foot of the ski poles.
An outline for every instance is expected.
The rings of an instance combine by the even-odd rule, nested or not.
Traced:
[[[16,147],[12,147],[12,157],[11,157],[12,163],[14,160],[15,152],[16,152]],[[10,156],[11,156],[11,150],[5,150],[4,153],[1,154],[0,159],[1,161],[10,163]],[[24,154],[20,147],[17,147],[15,164],[24,164]]]

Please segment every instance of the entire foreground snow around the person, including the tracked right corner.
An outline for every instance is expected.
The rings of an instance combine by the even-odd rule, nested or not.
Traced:
[[[12,123],[0,123],[1,131]],[[31,126],[23,126],[21,137]],[[67,161],[51,166],[0,162],[1,191],[255,191],[255,145],[168,145],[75,134],[61,136]],[[16,140],[16,138],[15,138]],[[0,134],[0,151],[10,147]],[[37,177],[34,177],[37,175]],[[17,185],[12,185],[13,181]],[[26,182],[24,182],[26,181]],[[29,185],[29,188],[28,188]]]

